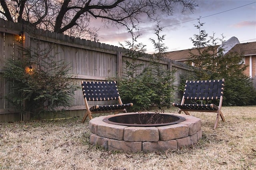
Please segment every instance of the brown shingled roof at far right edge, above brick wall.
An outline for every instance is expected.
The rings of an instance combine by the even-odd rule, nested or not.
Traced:
[[[256,54],[256,42],[238,43],[228,52],[238,52],[243,55]]]

